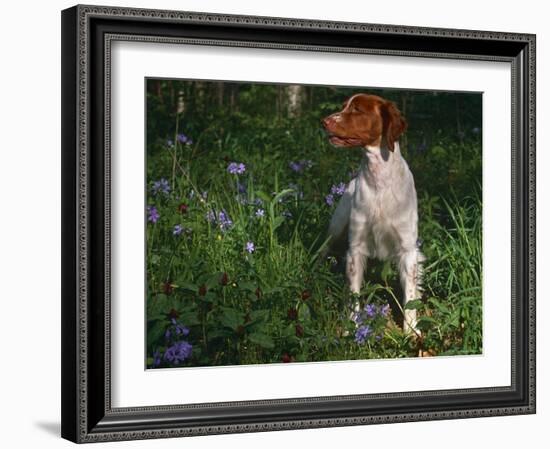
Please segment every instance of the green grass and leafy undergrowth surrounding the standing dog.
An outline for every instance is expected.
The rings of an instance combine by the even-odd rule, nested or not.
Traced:
[[[360,151],[331,147],[307,119],[272,123],[253,137],[246,123],[232,129],[205,129],[191,145],[169,146],[166,136],[149,136],[148,205],[160,216],[147,222],[149,367],[481,352],[478,138],[440,137],[422,154],[405,149],[427,257],[423,297],[410,304],[419,311],[423,338],[400,328],[394,267],[370,261],[360,298],[378,313],[366,318],[371,332],[358,344],[341,266],[317,256],[334,208],[325,196],[350,179]],[[289,163],[299,160],[312,165],[296,173]],[[229,173],[233,161],[246,164],[246,171]],[[154,193],[161,178],[169,192]],[[207,220],[220,211],[232,221],[226,229]],[[184,229],[180,235],[174,235],[177,225]],[[247,242],[254,244],[251,253]],[[391,312],[384,315],[386,304]],[[166,351],[181,341],[192,345],[191,354],[172,363]]]

